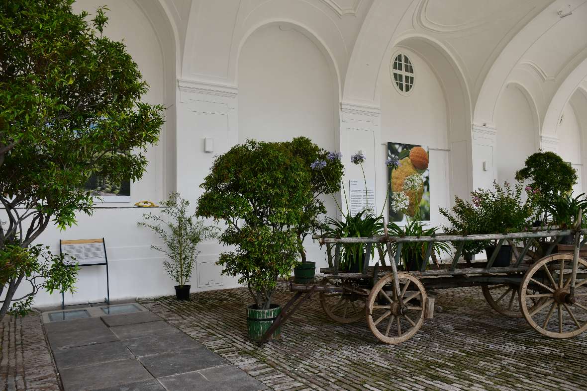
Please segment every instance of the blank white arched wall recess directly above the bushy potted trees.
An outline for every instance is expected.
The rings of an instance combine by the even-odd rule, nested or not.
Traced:
[[[252,33],[238,62],[238,141],[287,141],[305,136],[339,150],[338,86],[322,50],[292,26],[268,25]],[[332,196],[323,200],[336,213]],[[306,239],[308,260],[325,263]]]

